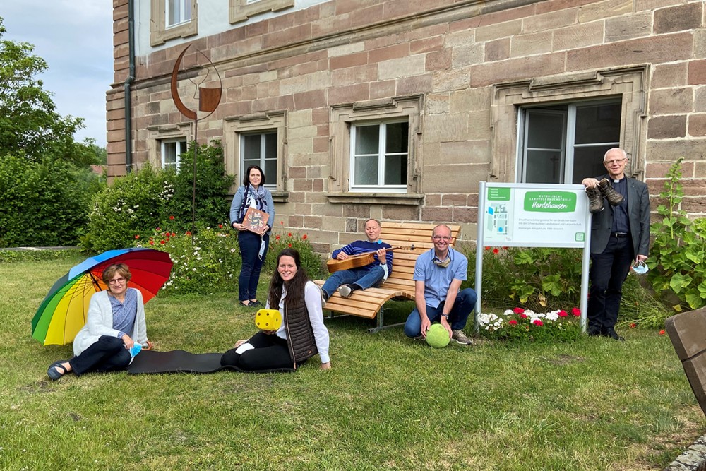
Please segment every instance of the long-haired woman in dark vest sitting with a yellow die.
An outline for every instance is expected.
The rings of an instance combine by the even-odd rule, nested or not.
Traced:
[[[277,256],[266,308],[270,306],[278,306],[282,326],[276,331],[261,330],[249,340],[238,340],[223,354],[221,365],[243,371],[297,369],[318,353],[321,369],[330,369],[321,290],[306,276],[299,252],[294,249],[285,249]]]

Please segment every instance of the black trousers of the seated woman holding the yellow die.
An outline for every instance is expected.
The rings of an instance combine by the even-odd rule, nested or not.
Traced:
[[[287,340],[275,334],[258,332],[250,338],[249,343],[255,348],[243,354],[236,353],[236,349],[232,348],[223,354],[221,365],[236,366],[244,371],[291,369],[294,365]]]

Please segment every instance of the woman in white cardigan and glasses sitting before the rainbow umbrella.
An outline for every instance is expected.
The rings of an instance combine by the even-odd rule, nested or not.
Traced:
[[[145,326],[145,303],[142,293],[128,288],[130,269],[124,263],[109,266],[103,272],[107,291],[92,295],[86,324],[73,340],[73,357],[49,366],[52,381],[73,371],[81,376],[88,371],[126,369],[135,342],[151,347]],[[129,332],[129,335],[128,335]]]

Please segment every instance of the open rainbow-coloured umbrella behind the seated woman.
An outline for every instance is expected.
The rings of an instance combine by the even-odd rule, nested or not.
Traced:
[[[145,302],[155,297],[172,271],[167,252],[155,249],[109,250],[86,258],[56,280],[32,318],[32,338],[43,345],[66,345],[86,323],[88,303],[95,292],[105,290],[103,270],[113,263],[125,263],[132,278],[128,287],[142,292]]]

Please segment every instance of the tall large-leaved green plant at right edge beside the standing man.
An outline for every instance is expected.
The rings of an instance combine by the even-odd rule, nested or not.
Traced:
[[[657,206],[660,219],[652,224],[654,238],[647,258],[647,279],[654,290],[671,302],[675,311],[698,309],[706,304],[706,221],[691,221],[681,209],[683,190],[679,158],[667,172],[659,197],[666,205]]]

